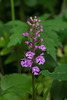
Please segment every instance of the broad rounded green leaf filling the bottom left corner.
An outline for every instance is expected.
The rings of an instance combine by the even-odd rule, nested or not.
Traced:
[[[1,88],[8,93],[20,95],[31,88],[31,82],[32,79],[30,76],[21,74],[5,75],[1,79]]]

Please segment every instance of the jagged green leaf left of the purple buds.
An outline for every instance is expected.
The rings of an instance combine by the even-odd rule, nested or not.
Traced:
[[[21,21],[11,21],[7,23],[6,26],[11,26],[10,33],[13,33],[10,37],[8,47],[21,43],[23,39],[22,33],[28,30],[28,25]]]

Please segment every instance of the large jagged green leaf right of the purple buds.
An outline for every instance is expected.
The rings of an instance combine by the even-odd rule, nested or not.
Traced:
[[[56,60],[56,47],[61,46],[59,36],[57,32],[67,28],[67,23],[62,19],[45,20],[45,15],[41,17],[41,23],[43,25],[43,33],[41,37],[44,39],[42,44],[47,48],[47,53],[50,54],[54,60]]]

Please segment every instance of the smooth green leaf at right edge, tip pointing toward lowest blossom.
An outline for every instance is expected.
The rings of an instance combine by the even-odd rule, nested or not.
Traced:
[[[49,76],[53,79],[67,80],[67,64],[62,64],[55,68],[55,71],[50,73],[48,70],[41,71],[42,75]]]

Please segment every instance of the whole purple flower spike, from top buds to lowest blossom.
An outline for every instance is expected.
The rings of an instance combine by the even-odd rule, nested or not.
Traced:
[[[43,32],[43,26],[39,25],[40,22],[41,20],[38,20],[37,16],[34,16],[34,19],[30,17],[30,21],[27,21],[27,24],[30,26],[30,32],[22,34],[23,36],[29,37],[29,41],[25,41],[25,44],[28,45],[29,51],[26,52],[26,58],[21,59],[21,65],[22,67],[32,68],[32,73],[34,75],[38,75],[38,72],[40,71],[37,66],[34,66],[35,61],[38,65],[42,65],[45,62],[45,58],[43,57],[44,53],[35,57],[36,49],[46,51],[46,47],[44,45],[37,45],[39,42],[43,41],[43,38],[40,38],[40,33]]]

